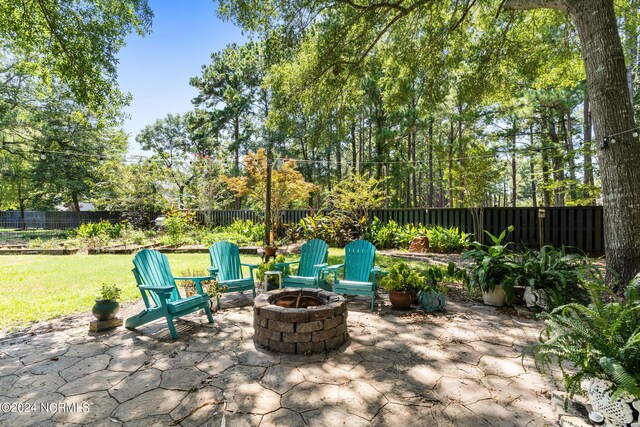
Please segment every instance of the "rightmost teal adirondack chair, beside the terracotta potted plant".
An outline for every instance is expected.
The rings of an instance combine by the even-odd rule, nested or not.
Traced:
[[[333,292],[337,294],[371,296],[371,311],[377,296],[376,276],[385,274],[374,267],[376,247],[366,240],[354,240],[344,248],[344,264],[323,270],[323,276],[333,272]],[[343,269],[342,279],[338,271]]]

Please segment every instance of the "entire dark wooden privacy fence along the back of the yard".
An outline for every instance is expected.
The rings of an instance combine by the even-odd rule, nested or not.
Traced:
[[[604,253],[604,232],[602,226],[602,206],[580,206],[562,208],[544,208],[540,214],[538,208],[484,208],[483,226],[488,232],[497,235],[508,226],[515,227],[509,235],[509,241],[526,246],[552,244],[554,246],[574,246],[591,254]],[[282,222],[297,223],[312,211],[286,210],[282,212]],[[326,213],[326,212],[323,212]],[[441,225],[458,227],[467,233],[473,233],[471,211],[466,208],[429,208],[429,209],[376,209],[369,213],[370,219],[378,217],[383,222],[393,220],[398,224]],[[152,217],[155,217],[152,215]],[[208,226],[229,225],[236,219],[261,221],[263,216],[252,210],[199,211],[196,218]],[[118,212],[25,212],[25,224],[22,224],[20,212],[0,212],[0,237],[6,233],[15,233],[16,229],[26,227],[29,230],[66,230],[76,228],[87,222],[108,220],[119,221]],[[35,232],[35,231],[34,231]]]

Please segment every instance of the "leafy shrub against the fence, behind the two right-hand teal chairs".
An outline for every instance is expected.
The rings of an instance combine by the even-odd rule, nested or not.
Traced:
[[[364,236],[367,218],[354,219],[343,212],[332,211],[327,215],[309,215],[298,224],[287,225],[286,235],[291,241],[322,239],[333,247],[344,247]]]

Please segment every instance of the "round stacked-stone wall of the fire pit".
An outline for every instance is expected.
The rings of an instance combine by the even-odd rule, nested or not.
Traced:
[[[286,295],[315,297],[324,305],[288,308],[273,304]],[[347,341],[347,302],[324,290],[277,289],[258,295],[253,309],[254,340],[279,353],[308,354],[333,350]]]

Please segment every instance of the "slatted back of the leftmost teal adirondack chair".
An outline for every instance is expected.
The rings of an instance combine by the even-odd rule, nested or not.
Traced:
[[[173,286],[169,301],[180,299],[166,255],[152,249],[143,249],[133,258],[133,265],[139,284],[142,282],[146,286]],[[156,293],[151,292],[151,296],[157,305],[161,304]]]

